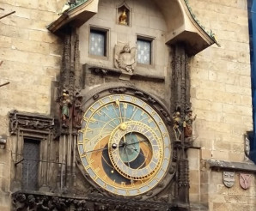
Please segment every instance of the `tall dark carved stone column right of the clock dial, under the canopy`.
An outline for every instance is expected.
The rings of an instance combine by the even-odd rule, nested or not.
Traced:
[[[190,104],[190,74],[187,63],[185,46],[178,44],[174,46],[172,87],[171,87],[171,112],[180,113],[179,130],[180,138],[175,139],[174,154],[177,160],[177,199],[178,202],[189,205],[189,167],[186,154],[186,143],[184,137],[183,123],[185,121],[186,109]],[[189,206],[188,206],[189,207]]]

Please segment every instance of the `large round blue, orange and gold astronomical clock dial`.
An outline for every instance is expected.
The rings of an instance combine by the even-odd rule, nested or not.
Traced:
[[[129,94],[95,99],[83,115],[77,144],[93,183],[119,196],[154,189],[171,162],[162,118],[147,102]]]

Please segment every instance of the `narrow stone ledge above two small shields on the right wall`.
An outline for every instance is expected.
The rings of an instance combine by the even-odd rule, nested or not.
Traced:
[[[255,172],[256,173],[256,165],[250,161],[240,163],[240,162],[229,162],[224,160],[205,160],[206,165],[210,166],[210,168],[217,169],[229,169],[236,171],[247,171],[247,172]]]

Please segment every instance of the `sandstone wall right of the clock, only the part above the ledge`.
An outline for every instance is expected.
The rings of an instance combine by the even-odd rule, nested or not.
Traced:
[[[192,57],[192,105],[203,159],[242,161],[243,135],[253,130],[247,1],[189,3],[216,45]]]

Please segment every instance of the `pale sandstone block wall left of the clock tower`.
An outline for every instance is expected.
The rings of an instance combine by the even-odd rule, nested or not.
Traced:
[[[64,1],[2,0],[0,15],[0,134],[9,135],[10,110],[50,115],[52,81],[59,75],[62,45],[46,25]],[[10,165],[15,140],[0,149],[0,210],[9,209]]]

